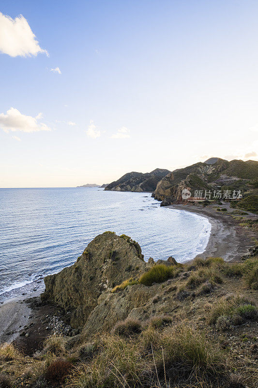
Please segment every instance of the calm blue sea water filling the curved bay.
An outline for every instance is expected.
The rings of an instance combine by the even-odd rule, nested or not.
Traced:
[[[145,259],[193,259],[211,225],[160,207],[148,193],[99,188],[0,189],[0,300],[30,292],[45,275],[73,264],[106,230],[139,242]]]

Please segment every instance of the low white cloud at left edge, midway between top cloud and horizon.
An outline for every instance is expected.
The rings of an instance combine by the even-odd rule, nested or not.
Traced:
[[[0,113],[0,128],[7,133],[9,131],[38,132],[40,130],[51,130],[46,124],[38,122],[41,117],[42,113],[32,117],[20,113],[15,108],[10,108],[6,114]]]

